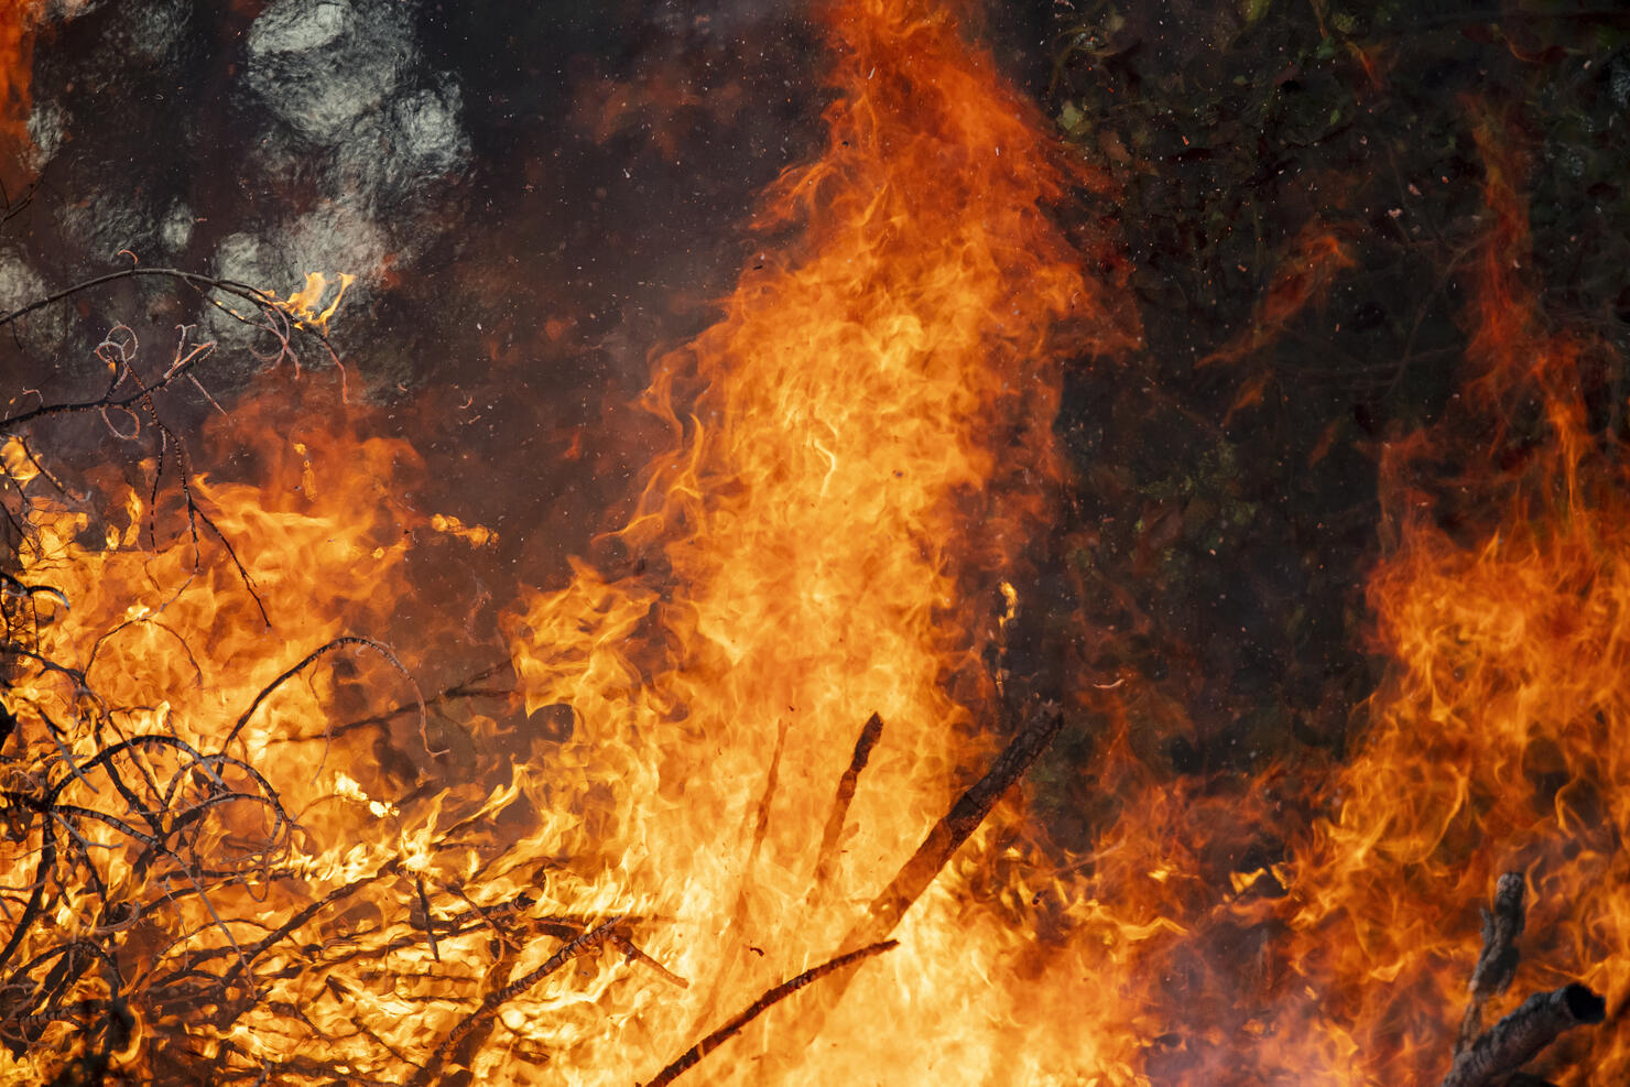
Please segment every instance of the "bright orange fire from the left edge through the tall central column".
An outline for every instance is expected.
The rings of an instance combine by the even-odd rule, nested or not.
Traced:
[[[632,518],[512,614],[517,709],[554,737],[535,758],[494,719],[432,722],[373,636],[416,539],[492,538],[396,497],[404,443],[295,412],[249,486],[166,440],[143,471],[179,468],[179,492],[108,481],[104,521],[7,447],[18,580],[49,587],[8,611],[39,663],[8,707],[42,768],[8,794],[8,903],[51,888],[7,948],[46,1009],[8,1027],[8,1074],[626,1082],[848,950],[1014,727],[985,658],[1056,476],[1053,360],[1130,336],[1042,210],[1069,178],[1038,117],[954,13],[854,0],[825,21],[826,152],[761,217],[791,241],[659,365],[645,404],[673,447]],[[326,331],[326,288],[274,301]],[[367,717],[380,698],[399,709]],[[981,833],[947,882],[1006,849]],[[771,1012],[712,1076],[949,1051],[986,1077],[1022,1001],[991,984],[1024,953],[1002,922],[931,888],[898,950],[828,984],[848,999],[807,1006],[818,1048]],[[72,950],[108,932],[119,958]],[[68,997],[104,1009],[95,1030],[49,1014]],[[879,1015],[924,1028],[903,1046]]]

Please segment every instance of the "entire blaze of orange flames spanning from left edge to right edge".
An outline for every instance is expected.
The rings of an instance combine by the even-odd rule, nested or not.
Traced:
[[[1090,851],[1009,803],[880,898],[1040,701],[1006,660],[1053,592],[1030,541],[1058,360],[1136,331],[1045,210],[1090,179],[957,5],[820,15],[825,150],[766,194],[720,319],[657,360],[670,443],[631,513],[507,608],[496,714],[427,696],[456,624],[401,614],[434,611],[425,556],[497,535],[417,508],[419,455],[321,376],[223,409],[215,473],[152,396],[85,412],[147,455],[95,500],[42,422],[8,430],[0,965],[26,996],[0,1076],[1431,1082],[1511,870],[1518,989],[1630,999],[1627,481],[1588,425],[1597,349],[1509,264],[1519,163],[1491,135],[1477,373],[1464,417],[1387,451],[1394,668],[1348,761],[1172,781],[1139,745],[1192,727],[1175,701],[1084,673]],[[1216,359],[1353,264],[1309,227]],[[326,336],[349,285],[310,274],[269,328]],[[132,376],[134,334],[104,362]],[[1465,448],[1451,486],[1416,479]],[[1588,1072],[1553,1079],[1630,1074],[1606,1032],[1570,1045]]]

